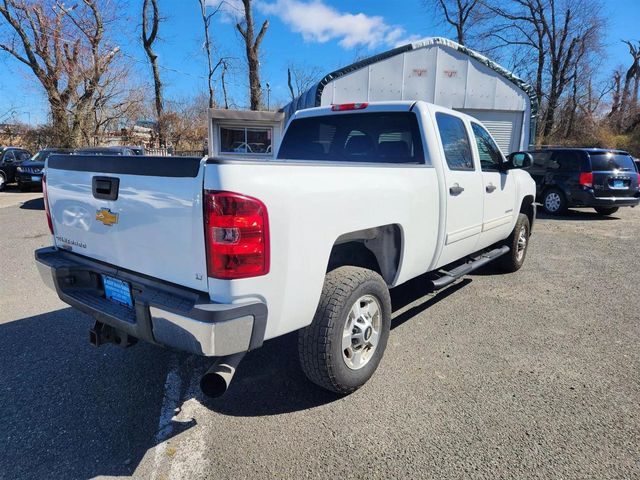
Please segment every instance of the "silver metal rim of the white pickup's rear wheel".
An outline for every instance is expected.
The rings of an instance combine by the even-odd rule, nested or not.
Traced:
[[[355,301],[342,332],[342,359],[351,370],[363,368],[376,351],[382,327],[382,308],[373,295]]]

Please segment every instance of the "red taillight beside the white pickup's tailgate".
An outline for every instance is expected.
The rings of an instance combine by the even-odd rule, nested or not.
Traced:
[[[269,217],[256,198],[205,191],[207,270],[234,279],[269,273]]]

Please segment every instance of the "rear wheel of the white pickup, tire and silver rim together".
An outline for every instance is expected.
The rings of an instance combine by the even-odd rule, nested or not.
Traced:
[[[358,267],[327,273],[313,322],[298,334],[300,364],[313,383],[340,394],[364,385],[389,338],[391,298],[380,275]]]

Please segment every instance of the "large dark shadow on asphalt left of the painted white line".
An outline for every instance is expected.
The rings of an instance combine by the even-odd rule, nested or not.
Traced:
[[[128,476],[158,443],[175,353],[142,343],[98,350],[91,325],[71,308],[0,325],[0,477]],[[194,425],[172,422],[168,437]]]

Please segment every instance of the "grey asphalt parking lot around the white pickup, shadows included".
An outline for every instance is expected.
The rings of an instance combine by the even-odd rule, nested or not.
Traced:
[[[13,195],[0,193],[0,478],[640,477],[640,209],[539,219],[515,274],[395,289],[385,358],[348,397],[305,380],[289,335],[212,401],[204,359],[89,345],[92,321],[34,265],[50,243],[41,197]]]

